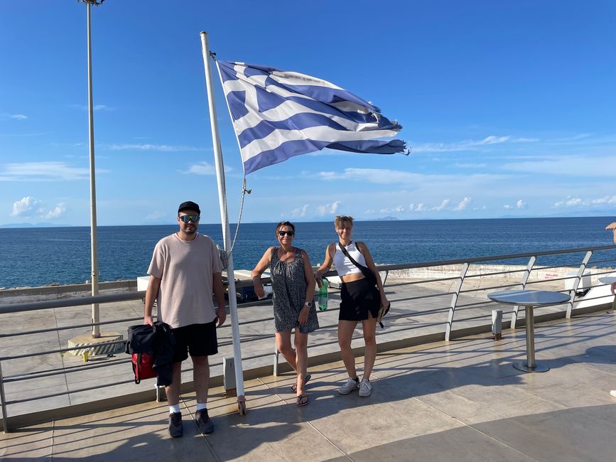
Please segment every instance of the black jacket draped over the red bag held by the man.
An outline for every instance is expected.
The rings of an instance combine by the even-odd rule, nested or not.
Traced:
[[[153,369],[156,371],[156,385],[168,387],[173,376],[173,347],[175,338],[171,326],[161,321],[129,327],[129,340],[126,353],[150,353],[154,357]]]

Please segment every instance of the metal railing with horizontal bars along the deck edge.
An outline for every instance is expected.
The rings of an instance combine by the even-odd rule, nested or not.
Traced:
[[[577,262],[576,265],[567,264],[566,266],[564,266],[562,264],[557,264],[557,265],[541,266],[537,263],[538,260],[540,260],[541,257],[544,257],[544,256],[554,257],[556,255],[571,255],[571,254],[579,254],[579,253],[583,253],[583,257],[581,258],[581,261]],[[597,257],[597,256],[599,256],[602,259],[596,259],[596,261],[593,262],[592,261],[593,257]],[[503,264],[502,262],[504,261],[511,260],[511,259],[521,259],[521,258],[529,259],[528,263],[526,264],[526,267],[522,265],[522,268],[511,269],[510,266],[509,267],[506,266],[504,269],[502,269],[502,271],[495,271],[494,267],[490,265],[490,263],[494,263],[494,262],[499,262],[500,264]],[[477,269],[473,268],[473,265],[477,266],[477,264],[487,264],[489,266],[489,268],[487,268],[487,272],[477,273]],[[529,286],[530,284],[540,284],[542,282],[545,282],[545,280],[541,280],[541,279],[529,280],[531,279],[530,276],[532,272],[534,271],[546,271],[549,269],[558,269],[558,268],[567,268],[571,270],[571,267],[573,267],[573,269],[576,270],[575,275],[558,276],[558,277],[554,277],[553,279],[550,279],[551,281],[566,281],[568,279],[573,280],[573,284],[571,284],[571,288],[566,290],[569,292],[571,297],[568,303],[566,304],[566,310],[565,310],[566,315],[565,316],[567,318],[571,318],[573,314],[573,304],[575,303],[576,299],[579,298],[578,297],[578,286],[580,284],[580,280],[582,279],[585,272],[588,271],[588,267],[590,267],[590,264],[604,264],[605,266],[607,266],[607,264],[612,264],[612,266],[614,266],[616,264],[616,246],[610,245],[610,246],[603,246],[603,247],[587,247],[583,249],[562,249],[562,250],[551,250],[551,251],[544,251],[544,252],[531,252],[531,253],[527,252],[527,253],[521,253],[521,254],[492,255],[492,256],[487,256],[487,257],[473,257],[473,258],[467,258],[467,259],[448,259],[448,260],[440,260],[440,261],[434,261],[434,262],[378,265],[377,269],[379,269],[379,272],[384,272],[385,274],[384,285],[386,286],[388,291],[394,291],[396,295],[398,294],[399,291],[403,291],[402,289],[405,289],[406,287],[409,287],[410,289],[413,289],[414,291],[418,290],[416,289],[417,287],[425,288],[426,286],[430,284],[445,284],[445,285],[453,284],[453,287],[450,289],[445,289],[445,290],[443,290],[443,288],[441,287],[438,291],[435,291],[436,293],[433,293],[433,294],[419,294],[417,296],[415,295],[404,296],[405,294],[401,294],[403,296],[400,296],[399,298],[390,299],[390,301],[392,302],[392,307],[397,306],[399,307],[399,309],[398,310],[392,309],[390,314],[387,316],[387,323],[389,324],[389,327],[385,331],[377,332],[377,335],[408,331],[409,336],[407,338],[411,338],[413,336],[413,331],[416,331],[417,329],[420,329],[420,328],[429,329],[429,328],[434,328],[436,326],[444,325],[444,331],[441,331],[441,332],[443,332],[445,340],[450,340],[450,338],[453,335],[453,326],[455,325],[455,323],[463,323],[463,322],[468,323],[468,322],[475,322],[475,321],[480,321],[480,320],[487,321],[487,319],[490,318],[490,313],[488,311],[485,311],[485,314],[482,314],[482,312],[477,313],[477,308],[485,308],[487,306],[494,305],[494,302],[488,300],[487,296],[478,295],[481,292],[495,291],[499,289],[510,289],[510,288],[524,289],[526,286]],[[419,277],[417,274],[413,275],[414,269],[429,270],[429,269],[434,269],[435,267],[455,267],[453,269],[449,269],[449,272],[454,272],[454,274],[453,275],[441,274],[441,276],[438,276],[438,277]],[[605,269],[593,269],[593,276],[609,274],[612,271],[605,270]],[[335,274],[336,274],[335,272],[329,272],[326,276],[332,276]],[[519,274],[519,276],[517,276],[517,274]],[[504,282],[501,281],[500,284],[497,284],[494,286],[490,284],[490,286],[488,287],[481,287],[481,286],[472,287],[471,286],[468,289],[465,288],[465,284],[472,285],[472,283],[470,283],[469,281],[474,281],[476,278],[480,278],[480,280],[481,279],[493,280],[493,279],[497,279],[498,276],[501,276],[501,279],[506,279],[506,280]],[[514,276],[517,276],[517,279],[515,279]],[[392,279],[393,279],[393,282],[392,282]],[[267,282],[269,281],[269,279],[264,278],[263,281]],[[251,285],[252,285],[251,281],[237,281],[238,289],[241,289],[244,286],[251,286]],[[71,297],[67,299],[58,299],[58,300],[51,300],[51,301],[14,303],[14,304],[0,305],[0,315],[9,314],[9,313],[26,313],[28,311],[41,311],[41,310],[48,310],[48,309],[53,309],[53,308],[84,306],[84,305],[88,305],[91,303],[114,303],[114,302],[119,302],[119,301],[133,301],[133,300],[143,299],[143,297],[144,297],[144,292],[127,292],[123,294],[109,294],[109,295],[99,295],[99,296],[79,296],[79,297],[75,296],[75,297]],[[445,301],[443,302],[442,306],[437,305],[437,306],[433,306],[430,308],[427,308],[426,306],[422,306],[423,304],[421,303],[421,301],[423,301],[427,305],[429,303],[433,303],[433,300],[439,300],[440,297],[450,297],[450,302],[447,303]],[[463,298],[465,298],[465,303],[460,303],[460,301]],[[596,297],[596,298],[600,299],[600,298],[603,298],[603,296]],[[248,305],[254,306],[254,305],[264,304],[264,303],[269,303],[269,301],[260,301],[260,302],[254,302],[254,303],[239,303],[238,308],[241,309],[244,306],[248,306]],[[408,306],[408,307],[412,306],[413,308],[421,308],[421,310],[414,311],[414,313],[411,313],[410,315],[409,313],[405,313],[405,312],[399,312],[396,314],[395,311],[403,311],[401,309],[401,307],[403,306]],[[512,328],[515,327],[516,322],[517,322],[517,318],[519,314],[518,309],[519,307],[516,306],[510,311],[505,312],[511,315],[511,327]],[[337,310],[330,309],[324,313],[330,313],[331,311],[337,311]],[[468,311],[469,315],[467,317],[463,317],[466,311]],[[430,318],[429,320],[426,320],[426,322],[416,323],[416,325],[414,325],[414,323],[412,322],[413,321],[412,318],[413,316],[417,316],[416,313],[421,314],[421,316],[426,316],[427,318],[431,316],[443,316],[443,318],[441,319],[436,318],[434,321],[432,321]],[[444,319],[445,313],[447,313],[446,320]],[[132,323],[134,321],[140,322],[142,319],[143,319],[142,316],[131,317],[131,318],[120,318],[120,319],[114,319],[114,320],[109,320],[109,321],[101,321],[97,323],[97,325],[103,326],[103,325],[108,325],[108,324]],[[252,319],[250,321],[242,321],[242,322],[239,322],[239,326],[249,326],[254,323],[263,323],[264,321],[271,323],[273,319],[274,318],[272,316],[272,317],[266,317],[266,318]],[[398,325],[397,321],[406,321],[406,322],[404,323],[401,322]],[[336,326],[337,326],[337,323],[330,323],[330,324],[321,326],[320,328],[321,329],[329,329],[329,328],[333,329]],[[87,324],[80,323],[80,324],[74,324],[70,326],[60,326],[60,327],[55,327],[55,328],[43,328],[43,329],[35,329],[35,330],[30,330],[30,331],[22,331],[22,332],[14,332],[14,333],[2,333],[0,334],[0,340],[3,338],[13,338],[13,337],[21,338],[23,335],[40,335],[40,334],[45,334],[45,333],[50,333],[50,332],[56,332],[59,335],[60,331],[68,331],[70,329],[85,328],[85,327],[87,328],[92,327],[92,323],[87,323]],[[228,328],[228,327],[229,327],[228,324],[225,326],[222,326],[222,328]],[[271,332],[266,332],[266,333],[262,333],[258,335],[252,335],[251,338],[245,338],[244,340],[242,340],[242,345],[247,345],[249,343],[252,343],[258,340],[271,339],[274,337],[272,333],[273,331],[274,329],[271,328]],[[353,340],[360,339],[361,337],[362,337],[361,334],[355,335]],[[126,340],[118,340],[116,342],[105,343],[105,345],[117,344],[119,348],[121,348],[122,345],[124,345],[125,343],[126,343]],[[310,343],[309,348],[318,348],[318,347],[322,347],[326,345],[333,345],[335,343],[337,343],[337,339],[336,340],[326,340],[325,342],[320,342],[320,343]],[[225,345],[229,345],[229,344],[230,344],[229,341],[221,342],[219,343],[219,346],[224,347]],[[92,343],[92,346],[95,346],[95,345],[97,344]],[[119,364],[128,364],[131,362],[129,358],[107,359],[105,360],[105,362],[102,362],[100,364],[85,363],[83,365],[74,365],[74,366],[66,366],[66,367],[48,367],[43,370],[37,370],[36,372],[21,372],[21,373],[9,375],[9,376],[4,376],[2,373],[2,366],[5,365],[9,361],[23,360],[24,358],[33,358],[36,356],[43,356],[43,355],[53,355],[53,354],[63,355],[64,353],[69,353],[72,350],[78,350],[82,348],[83,347],[55,348],[55,349],[50,349],[50,350],[37,351],[33,353],[19,353],[19,354],[14,354],[14,355],[0,356],[0,401],[1,401],[0,407],[2,411],[4,431],[9,431],[9,421],[8,421],[9,413],[7,411],[7,408],[11,405],[27,402],[27,401],[30,401],[31,399],[46,399],[46,398],[51,398],[51,397],[57,397],[63,394],[86,392],[90,390],[97,390],[102,387],[107,387],[107,386],[112,386],[112,385],[113,386],[123,385],[123,384],[129,384],[129,383],[134,382],[133,380],[121,380],[121,381],[114,381],[112,384],[108,384],[108,385],[98,384],[98,385],[90,386],[90,387],[81,387],[81,388],[76,387],[75,389],[72,389],[72,390],[68,390],[67,388],[66,392],[53,392],[53,393],[47,393],[47,394],[40,394],[36,396],[35,398],[9,399],[9,400],[6,399],[5,385],[9,383],[40,379],[43,377],[53,377],[55,375],[73,374],[77,372],[99,369],[102,367],[112,367],[112,366],[119,365]],[[271,353],[259,353],[256,355],[248,355],[242,358],[242,360],[244,361],[256,360],[259,358],[264,358],[269,355],[271,355]],[[274,353],[274,374],[277,373],[278,363],[279,363],[279,353],[275,351]],[[216,367],[220,365],[222,365],[222,361],[210,363],[211,367]],[[183,372],[186,372],[188,370],[190,370],[190,368],[183,370]]]

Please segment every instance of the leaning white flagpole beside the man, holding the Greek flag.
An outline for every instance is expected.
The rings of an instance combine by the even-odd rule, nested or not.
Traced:
[[[237,409],[239,414],[246,414],[246,398],[244,397],[244,374],[242,370],[242,350],[239,345],[239,324],[237,320],[237,297],[235,295],[235,276],[233,272],[233,255],[229,253],[231,238],[229,232],[229,215],[227,215],[227,191],[225,187],[225,168],[222,163],[222,149],[220,148],[220,136],[218,134],[218,119],[216,117],[216,105],[214,100],[214,85],[212,84],[212,68],[210,61],[210,44],[207,32],[202,32],[201,50],[203,64],[205,65],[205,82],[207,84],[207,104],[210,107],[210,124],[212,127],[212,143],[214,144],[214,161],[216,166],[216,178],[218,182],[218,200],[220,203],[220,217],[222,219],[222,238],[227,252],[227,279],[229,281],[229,311],[231,314],[231,333],[233,338],[233,358],[235,367],[235,386],[237,389]]]

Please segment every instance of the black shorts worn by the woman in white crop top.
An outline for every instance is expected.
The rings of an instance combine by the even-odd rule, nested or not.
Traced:
[[[381,294],[376,286],[370,284],[365,278],[359,281],[343,282],[340,288],[339,321],[364,321],[368,318],[368,311],[373,318],[379,315],[381,307]]]

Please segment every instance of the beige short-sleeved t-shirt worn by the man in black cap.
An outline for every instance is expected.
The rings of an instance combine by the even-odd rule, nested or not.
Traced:
[[[161,278],[156,297],[159,321],[172,328],[214,321],[212,274],[220,272],[222,263],[209,236],[197,233],[195,239],[184,241],[173,233],[158,241],[148,274]]]

